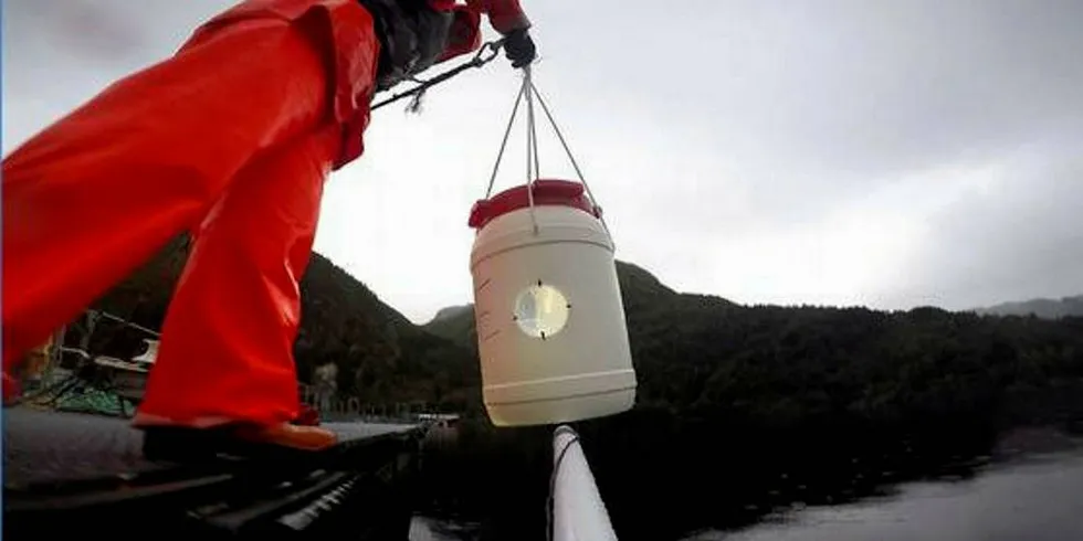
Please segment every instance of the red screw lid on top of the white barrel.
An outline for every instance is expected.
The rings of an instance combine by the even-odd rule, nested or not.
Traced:
[[[583,185],[567,180],[534,181],[534,205],[570,206],[582,210],[595,218],[601,218],[601,210],[592,205],[587,199]],[[467,224],[471,227],[481,229],[508,212],[529,206],[530,197],[527,192],[527,185],[518,185],[474,203],[474,208],[470,211]]]

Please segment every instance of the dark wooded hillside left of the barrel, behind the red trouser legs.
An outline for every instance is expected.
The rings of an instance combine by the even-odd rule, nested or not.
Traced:
[[[177,238],[96,306],[160,329],[187,254],[187,238]],[[319,254],[313,254],[301,286],[302,328],[294,351],[302,381],[309,381],[315,367],[334,363],[339,393],[366,403],[423,401],[451,410],[479,403],[477,363],[467,348],[418,328]],[[141,338],[101,332],[95,347],[130,356]]]

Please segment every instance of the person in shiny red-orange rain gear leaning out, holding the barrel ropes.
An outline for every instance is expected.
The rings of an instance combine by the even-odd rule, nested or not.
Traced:
[[[3,367],[190,231],[135,425],[319,449],[292,356],[327,176],[376,92],[476,50],[535,57],[517,0],[245,0],[3,160]]]

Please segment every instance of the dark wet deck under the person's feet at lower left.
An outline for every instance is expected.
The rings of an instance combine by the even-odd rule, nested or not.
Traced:
[[[12,407],[3,424],[4,534],[13,538],[75,523],[87,534],[138,539],[147,521],[232,539],[387,528],[402,509],[358,509],[393,503],[389,477],[408,474],[401,465],[421,435],[414,425],[327,423],[343,442],[319,454],[332,458],[186,465],[146,459],[143,433],[128,420]],[[337,526],[320,526],[328,523]]]

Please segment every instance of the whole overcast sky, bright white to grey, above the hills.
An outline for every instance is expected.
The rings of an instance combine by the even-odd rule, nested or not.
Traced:
[[[667,285],[892,309],[1083,293],[1083,2],[523,3],[618,257]],[[3,0],[4,155],[229,4]],[[377,113],[316,250],[414,321],[470,301],[466,216],[517,85],[498,63]],[[546,134],[544,176],[571,173],[558,150]]]

